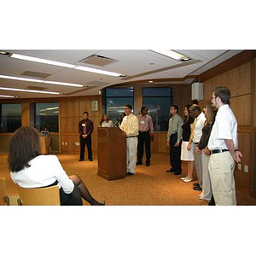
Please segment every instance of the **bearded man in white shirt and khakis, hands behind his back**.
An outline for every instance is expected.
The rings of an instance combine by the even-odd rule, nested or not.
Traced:
[[[212,107],[218,108],[207,147],[211,150],[209,172],[216,206],[236,206],[235,163],[238,151],[237,121],[230,109],[230,90],[218,88],[212,93]]]

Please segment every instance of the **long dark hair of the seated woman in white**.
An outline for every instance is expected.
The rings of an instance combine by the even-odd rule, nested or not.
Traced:
[[[20,172],[29,167],[28,162],[41,154],[41,142],[38,130],[32,127],[20,127],[9,142],[9,170]]]

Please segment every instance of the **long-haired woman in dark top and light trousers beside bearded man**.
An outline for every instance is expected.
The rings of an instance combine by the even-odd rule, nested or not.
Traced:
[[[202,192],[199,199],[210,201],[212,198],[212,185],[208,169],[210,150],[207,148],[207,143],[212,131],[212,125],[215,120],[215,111],[212,108],[212,102],[206,102],[203,108],[206,116],[206,122],[202,129],[200,142],[196,145],[195,153],[201,154],[202,161]]]

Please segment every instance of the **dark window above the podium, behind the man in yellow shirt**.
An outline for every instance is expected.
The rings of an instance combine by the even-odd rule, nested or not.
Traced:
[[[133,88],[106,89],[106,113],[113,123],[124,112],[125,105],[133,106]]]

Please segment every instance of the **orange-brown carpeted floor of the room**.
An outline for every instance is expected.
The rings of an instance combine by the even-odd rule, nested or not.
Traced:
[[[123,179],[108,181],[97,175],[97,157],[94,161],[79,162],[79,155],[58,154],[61,165],[68,175],[77,174],[84,180],[90,194],[97,201],[105,200],[108,206],[207,206],[207,201],[198,199],[201,191],[193,189],[193,182],[183,183],[180,177],[167,173],[169,155],[153,153],[151,165],[137,166],[137,174]],[[7,154],[0,154],[0,177],[5,177],[9,195],[17,194],[15,183],[9,177]],[[237,205],[256,205],[247,189],[236,189]],[[84,201],[84,205],[89,205]]]

